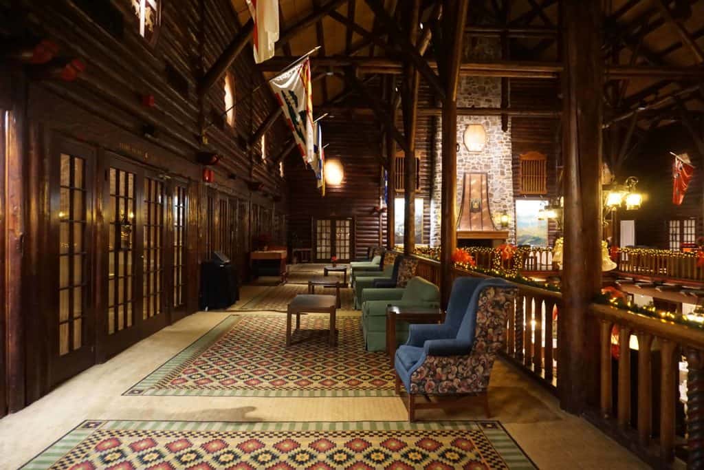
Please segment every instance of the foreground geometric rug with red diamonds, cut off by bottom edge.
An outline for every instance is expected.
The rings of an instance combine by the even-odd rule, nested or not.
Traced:
[[[23,469],[534,469],[497,421],[84,421]]]

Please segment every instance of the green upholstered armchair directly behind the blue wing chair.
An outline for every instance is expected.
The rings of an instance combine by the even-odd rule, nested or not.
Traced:
[[[440,307],[438,286],[419,277],[410,278],[406,287],[365,289],[362,292],[362,331],[367,351],[386,350],[386,307]],[[408,338],[408,323],[396,323],[396,340]]]

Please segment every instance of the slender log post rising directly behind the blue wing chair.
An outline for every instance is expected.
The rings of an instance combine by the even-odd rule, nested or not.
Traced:
[[[457,247],[457,84],[462,61],[462,43],[467,19],[468,0],[443,1],[443,30],[447,56],[442,107],[442,221],[440,225],[440,288],[446,305],[452,290],[452,255]],[[450,43],[450,44],[447,44]]]

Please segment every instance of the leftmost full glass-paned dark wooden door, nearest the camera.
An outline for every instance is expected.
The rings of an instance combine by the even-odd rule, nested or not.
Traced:
[[[51,151],[47,237],[51,302],[49,386],[95,364],[95,150],[56,138]]]

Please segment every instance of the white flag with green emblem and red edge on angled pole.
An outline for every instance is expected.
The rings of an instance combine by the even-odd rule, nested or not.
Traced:
[[[303,161],[313,163],[313,92],[310,87],[310,59],[294,65],[269,80],[269,85],[284,110],[289,128]]]

